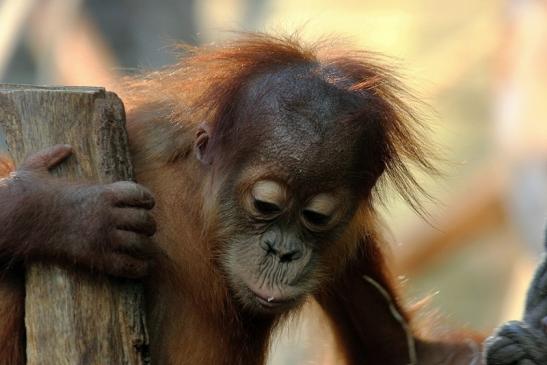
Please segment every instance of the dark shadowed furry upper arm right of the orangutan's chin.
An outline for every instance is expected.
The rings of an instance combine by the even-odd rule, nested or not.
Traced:
[[[384,272],[377,245],[373,237],[362,241],[346,270],[317,296],[331,317],[339,347],[350,365],[409,363],[406,333],[391,315],[386,299],[363,277],[373,278],[390,292],[398,311],[405,315]]]

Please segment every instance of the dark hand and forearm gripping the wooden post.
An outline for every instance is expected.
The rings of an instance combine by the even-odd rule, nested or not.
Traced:
[[[156,230],[151,193],[129,181],[73,184],[49,174],[71,153],[70,146],[54,146],[0,179],[6,227],[0,264],[48,260],[121,277],[146,275]]]

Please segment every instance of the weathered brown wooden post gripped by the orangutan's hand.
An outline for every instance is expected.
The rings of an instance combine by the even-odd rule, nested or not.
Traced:
[[[133,179],[123,104],[102,88],[0,84],[0,126],[16,166],[33,152],[68,143],[74,156],[55,174],[97,183]],[[143,303],[134,281],[30,265],[27,363],[149,364]]]

